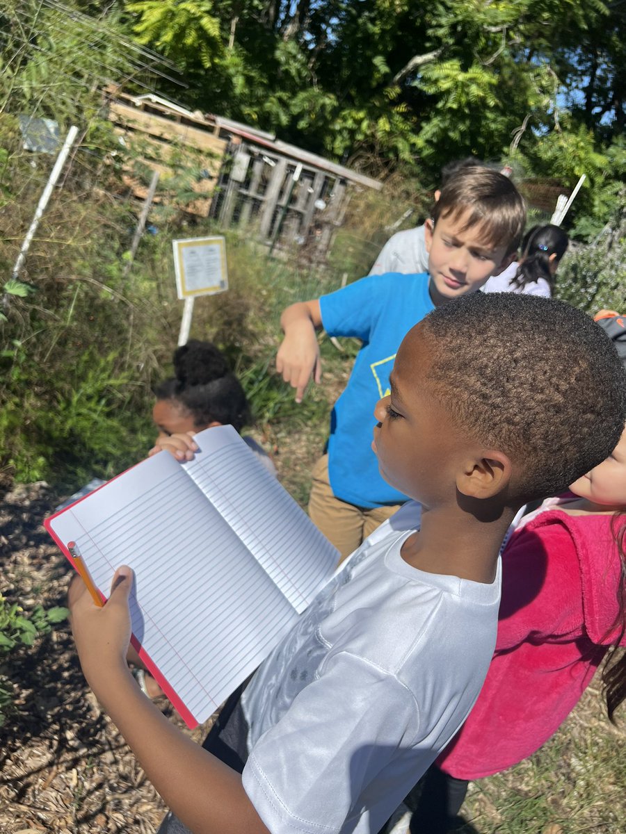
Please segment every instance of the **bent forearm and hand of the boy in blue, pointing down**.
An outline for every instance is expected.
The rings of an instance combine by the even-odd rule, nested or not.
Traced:
[[[321,379],[320,345],[316,336],[316,329],[321,328],[319,300],[291,304],[280,316],[280,326],[285,339],[278,349],[276,370],[295,388],[295,402],[300,403],[310,377],[315,382]]]

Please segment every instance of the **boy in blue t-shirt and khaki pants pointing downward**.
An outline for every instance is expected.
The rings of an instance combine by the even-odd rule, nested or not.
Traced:
[[[490,168],[464,168],[444,185],[427,220],[428,274],[370,275],[282,314],[285,339],[276,369],[296,389],[296,402],[311,376],[321,379],[316,329],[363,343],[332,410],[328,451],[313,470],[309,501],[311,520],[342,558],[406,501],[378,472],[367,420],[376,400],[389,393],[401,340],[432,309],[476,292],[506,269],[525,220],[523,198],[510,179]]]

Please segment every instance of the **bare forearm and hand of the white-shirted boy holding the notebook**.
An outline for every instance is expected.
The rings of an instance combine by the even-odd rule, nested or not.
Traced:
[[[70,585],[72,631],[89,686],[165,803],[194,834],[268,834],[240,774],[170,724],[131,676],[132,579],[129,568],[120,569],[103,608],[93,605],[82,580]]]

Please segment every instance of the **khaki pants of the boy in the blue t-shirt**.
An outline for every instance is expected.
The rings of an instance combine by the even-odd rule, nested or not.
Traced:
[[[341,501],[332,494],[328,479],[328,455],[323,455],[313,468],[309,498],[310,520],[340,551],[340,561],[356,550],[400,506],[395,504],[370,509]]]

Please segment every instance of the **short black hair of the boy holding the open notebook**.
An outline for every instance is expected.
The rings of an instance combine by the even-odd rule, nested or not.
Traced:
[[[427,384],[455,424],[516,465],[516,499],[557,495],[626,423],[626,373],[603,329],[554,299],[472,293],[423,319]]]

